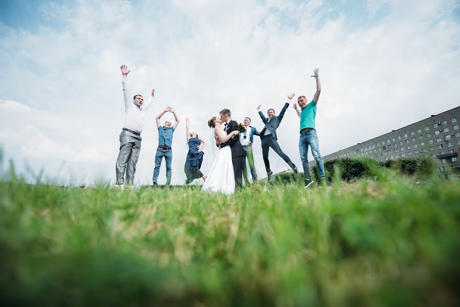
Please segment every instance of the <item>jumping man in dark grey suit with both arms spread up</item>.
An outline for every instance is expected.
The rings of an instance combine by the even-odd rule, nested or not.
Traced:
[[[289,107],[291,103],[292,97],[294,97],[294,93],[288,95],[288,101],[284,103],[279,116],[275,115],[275,110],[272,108],[268,109],[268,118],[265,118],[264,114],[260,111],[260,104],[257,106],[257,111],[259,112],[260,118],[265,124],[264,129],[260,131],[260,140],[262,142],[262,157],[264,158],[265,169],[267,170],[267,177],[268,180],[271,179],[273,171],[270,170],[270,161],[268,160],[268,150],[270,147],[275,150],[275,152],[280,156],[284,162],[288,163],[288,165],[292,168],[292,170],[299,174],[299,171],[294,163],[292,163],[291,159],[284,153],[278,145],[278,138],[276,136],[276,128],[279,127],[281,120],[284,117],[284,113],[286,113],[286,109]]]

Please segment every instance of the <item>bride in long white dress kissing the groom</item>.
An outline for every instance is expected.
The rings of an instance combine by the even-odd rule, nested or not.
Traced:
[[[217,145],[225,143],[232,136],[239,134],[238,131],[232,131],[227,135],[225,131],[221,130],[221,124],[222,120],[215,116],[208,121],[208,126],[214,128],[214,139]],[[214,162],[212,162],[208,177],[201,190],[224,194],[232,194],[235,191],[235,177],[233,175],[232,151],[230,146],[219,149],[219,153],[215,157]]]

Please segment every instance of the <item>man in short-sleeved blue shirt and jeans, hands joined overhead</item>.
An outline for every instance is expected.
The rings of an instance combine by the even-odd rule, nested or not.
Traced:
[[[174,115],[174,119],[176,122],[171,124],[170,121],[165,121],[165,125],[162,126],[160,123],[160,118],[166,113],[171,112]],[[157,180],[158,175],[160,174],[160,166],[163,157],[166,161],[166,186],[169,186],[171,182],[171,162],[172,162],[172,134],[174,130],[176,130],[177,125],[179,124],[179,117],[177,116],[176,112],[172,107],[166,107],[160,114],[157,115],[155,118],[157,120],[157,127],[158,127],[158,148],[157,154],[155,155],[155,169],[154,169],[154,177],[152,178],[154,181],[154,186],[158,186]]]

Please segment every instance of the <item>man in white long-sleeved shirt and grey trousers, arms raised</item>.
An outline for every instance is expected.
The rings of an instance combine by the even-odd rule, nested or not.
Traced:
[[[125,103],[125,118],[123,129],[120,133],[120,152],[118,153],[116,173],[117,186],[122,188],[126,183],[129,186],[134,184],[134,174],[136,173],[136,164],[139,159],[141,150],[141,132],[144,126],[145,113],[150,107],[155,96],[155,89],[152,90],[151,96],[144,103],[141,95],[136,95],[131,101],[128,91],[128,74],[130,70],[126,65],[121,65],[123,74],[123,98]],[[126,181],[124,174],[126,172]]]

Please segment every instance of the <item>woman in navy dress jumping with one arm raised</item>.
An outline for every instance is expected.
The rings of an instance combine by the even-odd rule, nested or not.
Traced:
[[[188,117],[185,118],[185,128],[187,134],[187,146],[188,153],[187,158],[185,159],[184,171],[187,176],[185,184],[191,183],[194,179],[203,178],[203,181],[206,180],[206,176],[200,170],[201,163],[203,162],[204,152],[201,151],[205,146],[205,141],[202,138],[199,138],[198,135],[194,132],[189,131],[188,128]]]

